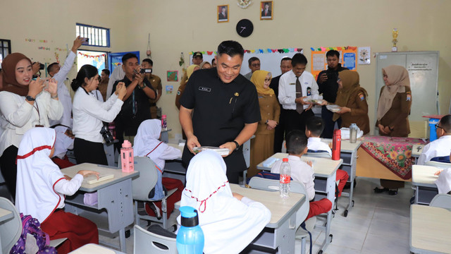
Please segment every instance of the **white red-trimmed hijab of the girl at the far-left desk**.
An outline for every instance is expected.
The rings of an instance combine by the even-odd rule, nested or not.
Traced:
[[[17,157],[16,207],[44,222],[64,196],[54,191],[54,184],[64,179],[61,170],[49,158],[56,139],[52,128],[37,127],[27,131]]]

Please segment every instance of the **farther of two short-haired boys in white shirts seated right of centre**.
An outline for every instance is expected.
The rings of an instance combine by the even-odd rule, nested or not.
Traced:
[[[332,157],[332,150],[326,144],[321,142],[321,138],[319,136],[323,133],[324,130],[324,121],[321,117],[314,116],[307,120],[307,124],[305,126],[305,135],[309,138],[309,143],[307,144],[308,152],[328,152],[330,157]],[[343,188],[345,188],[347,179],[350,176],[346,171],[342,169],[337,169],[335,181],[338,181],[338,197],[341,197],[341,193]]]

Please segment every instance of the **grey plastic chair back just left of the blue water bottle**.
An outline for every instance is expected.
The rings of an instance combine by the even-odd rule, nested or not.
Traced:
[[[161,236],[143,229],[135,224],[135,238],[133,239],[135,248],[134,254],[142,253],[165,253],[177,254],[175,238]]]

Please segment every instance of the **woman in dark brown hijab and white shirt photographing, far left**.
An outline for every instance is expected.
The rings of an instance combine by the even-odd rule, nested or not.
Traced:
[[[49,127],[49,119],[63,116],[54,79],[32,80],[32,62],[20,53],[9,54],[1,63],[0,167],[12,197],[16,196],[16,157],[23,134],[35,126]],[[47,88],[46,85],[48,84]]]

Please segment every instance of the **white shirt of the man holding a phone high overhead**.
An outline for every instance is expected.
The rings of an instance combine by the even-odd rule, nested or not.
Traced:
[[[77,55],[71,50],[66,61],[64,61],[63,66],[61,66],[58,73],[53,76],[53,78],[58,81],[58,99],[61,104],[63,104],[63,116],[59,120],[50,121],[50,126],[61,123],[63,126],[72,128],[72,98],[70,97],[70,92],[64,81],[68,77],[68,73],[73,66],[75,56]]]

